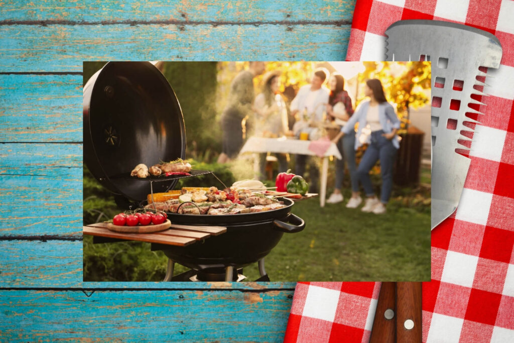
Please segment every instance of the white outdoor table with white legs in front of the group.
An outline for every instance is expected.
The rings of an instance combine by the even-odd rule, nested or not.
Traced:
[[[253,169],[255,173],[259,173],[259,153],[282,153],[282,154],[298,154],[298,155],[311,155],[317,156],[314,152],[308,149],[310,140],[299,139],[286,139],[282,138],[262,138],[250,137],[241,149],[240,153],[254,153]],[[323,163],[321,166],[321,180],[320,180],[320,206],[325,206],[326,197],[326,179],[328,176],[328,157],[335,156],[341,159],[341,153],[335,143],[332,143],[328,150],[323,155]]]

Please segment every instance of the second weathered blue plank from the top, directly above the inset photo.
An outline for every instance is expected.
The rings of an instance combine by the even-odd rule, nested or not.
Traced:
[[[344,60],[349,25],[4,25],[0,72],[81,71],[82,60]],[[19,55],[24,51],[24,55]]]

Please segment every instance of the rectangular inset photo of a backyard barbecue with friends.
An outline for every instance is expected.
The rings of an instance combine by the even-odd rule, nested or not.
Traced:
[[[430,62],[83,65],[84,281],[430,281]]]

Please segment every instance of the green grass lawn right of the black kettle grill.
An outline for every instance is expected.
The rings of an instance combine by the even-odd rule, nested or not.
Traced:
[[[272,280],[430,280],[430,213],[396,208],[376,215],[341,204],[320,208],[318,201],[293,206],[307,224],[284,234],[266,258]]]

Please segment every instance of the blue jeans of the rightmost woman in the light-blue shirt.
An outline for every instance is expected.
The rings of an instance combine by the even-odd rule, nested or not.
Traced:
[[[382,136],[383,131],[371,133],[371,144],[366,149],[357,168],[357,176],[367,196],[375,195],[370,179],[370,170],[380,159],[380,173],[382,174],[382,191],[380,201],[386,204],[391,197],[393,189],[393,164],[396,157],[396,148],[393,142]]]

